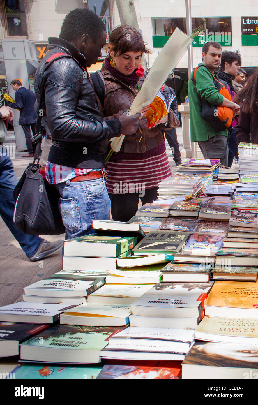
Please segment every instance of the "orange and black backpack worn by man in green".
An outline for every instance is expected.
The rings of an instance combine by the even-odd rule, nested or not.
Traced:
[[[196,71],[200,66],[197,66],[194,69],[192,81],[196,89]],[[212,74],[212,73],[211,73]],[[212,75],[213,76],[213,75]],[[228,92],[228,89],[218,81],[215,76],[213,76],[213,83],[217,88],[217,91],[222,94],[225,98],[232,101],[232,98]],[[232,119],[233,119],[233,110],[230,107],[221,107],[210,104],[208,101],[205,101],[205,106],[202,108],[201,98],[197,92],[200,116],[204,119],[216,132],[224,131],[227,128],[230,128]]]

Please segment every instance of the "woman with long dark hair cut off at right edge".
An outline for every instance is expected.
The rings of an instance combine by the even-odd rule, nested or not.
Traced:
[[[240,105],[237,143],[258,143],[258,68],[247,79],[245,87],[237,93],[235,102]]]

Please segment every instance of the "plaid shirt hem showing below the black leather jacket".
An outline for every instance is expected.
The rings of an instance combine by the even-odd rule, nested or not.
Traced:
[[[92,169],[78,169],[74,167],[60,166],[59,164],[47,161],[46,178],[49,184],[63,183],[73,179],[74,177],[88,174]]]

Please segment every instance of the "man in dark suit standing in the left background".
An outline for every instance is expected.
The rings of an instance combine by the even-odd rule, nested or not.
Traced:
[[[35,135],[36,128],[35,120],[37,115],[34,111],[36,96],[31,90],[23,87],[18,79],[12,80],[11,86],[15,91],[15,103],[7,102],[7,104],[9,107],[20,110],[19,125],[22,126],[24,131],[28,149],[27,155],[24,155],[23,158],[33,158],[31,138],[32,134]],[[32,134],[30,129],[32,130]]]

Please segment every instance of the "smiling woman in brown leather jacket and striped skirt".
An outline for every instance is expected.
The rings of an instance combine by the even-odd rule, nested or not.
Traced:
[[[149,53],[141,34],[130,26],[119,26],[109,36],[109,55],[100,70],[106,84],[104,116],[117,118],[130,111],[147,72],[139,69],[143,53]],[[135,134],[125,136],[119,152],[107,163],[107,191],[113,220],[128,221],[142,205],[157,198],[158,183],[171,175],[164,137],[160,129],[179,125],[170,110],[160,123],[148,129],[143,116]]]

